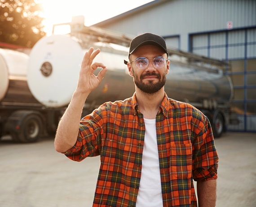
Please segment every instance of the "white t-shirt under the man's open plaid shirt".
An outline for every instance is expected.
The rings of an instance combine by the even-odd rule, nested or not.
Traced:
[[[145,119],[146,133],[142,154],[142,170],[136,207],[162,207],[160,168],[155,119]]]

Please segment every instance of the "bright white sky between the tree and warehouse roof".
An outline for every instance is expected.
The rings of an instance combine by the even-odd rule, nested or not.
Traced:
[[[72,16],[84,16],[90,26],[153,0],[41,0],[44,7],[45,32],[50,35],[53,24],[71,22]],[[56,27],[57,33],[66,33],[67,27]],[[63,31],[64,30],[64,31]]]

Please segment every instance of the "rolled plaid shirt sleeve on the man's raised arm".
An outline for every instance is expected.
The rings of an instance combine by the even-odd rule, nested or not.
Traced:
[[[79,125],[79,133],[75,145],[66,152],[63,152],[69,159],[82,161],[86,157],[100,155],[99,148],[102,136],[102,118],[100,110],[85,116]]]

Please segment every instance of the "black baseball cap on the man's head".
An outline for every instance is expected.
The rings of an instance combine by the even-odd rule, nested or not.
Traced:
[[[166,52],[168,56],[168,50],[163,37],[149,32],[140,34],[132,39],[130,43],[129,56],[132,54],[132,52],[134,52],[138,47],[141,47],[142,45],[155,45],[157,47],[160,47],[161,49],[163,49],[164,52]]]

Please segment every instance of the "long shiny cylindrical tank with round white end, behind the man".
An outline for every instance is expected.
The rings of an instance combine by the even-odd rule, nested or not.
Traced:
[[[52,35],[40,39],[31,50],[28,64],[28,86],[32,94],[48,107],[69,104],[85,51],[89,47],[100,47],[102,52],[95,61],[102,62],[109,70],[86,103],[94,107],[106,101],[132,96],[134,83],[124,65],[124,59],[128,59],[128,48],[124,52],[123,48],[112,46],[111,43],[84,41],[70,35]],[[165,85],[169,98],[194,103],[203,103],[204,99],[212,99],[219,104],[229,102],[232,86],[220,69],[211,72],[189,63],[175,63],[172,56],[170,60],[170,73]]]

